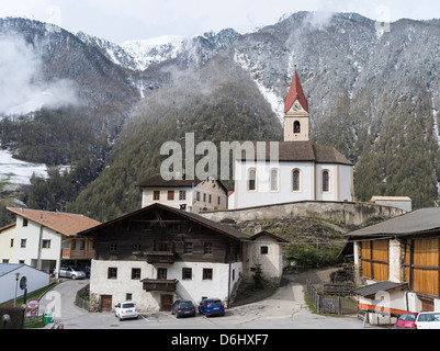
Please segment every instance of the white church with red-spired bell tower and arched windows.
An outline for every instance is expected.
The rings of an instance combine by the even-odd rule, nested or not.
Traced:
[[[309,140],[308,103],[296,68],[285,99],[284,141],[279,143],[278,160],[271,159],[269,143],[264,157],[257,154],[252,160],[236,157],[235,192],[228,210],[298,201],[353,201],[353,165],[334,147]]]

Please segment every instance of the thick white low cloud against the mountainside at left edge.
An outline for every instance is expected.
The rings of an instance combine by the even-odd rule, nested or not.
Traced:
[[[0,35],[0,114],[23,115],[78,103],[75,83],[44,81],[42,55],[16,35]]]

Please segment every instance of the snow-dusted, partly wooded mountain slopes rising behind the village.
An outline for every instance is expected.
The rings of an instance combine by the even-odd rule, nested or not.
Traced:
[[[99,160],[81,180],[81,192],[87,189],[69,199],[72,211],[102,220],[136,208],[136,182],[158,171],[160,145],[182,140],[183,132],[199,140],[281,139],[294,64],[313,139],[356,163],[359,200],[408,195],[420,207],[438,199],[439,21],[400,20],[383,32],[356,13],[323,20],[298,12],[247,34],[115,45],[35,21],[0,20],[0,39],[11,32],[38,53],[33,79],[45,88],[67,81],[77,101],[3,117],[2,147],[50,165]],[[54,121],[69,122],[70,134],[58,136]],[[103,203],[112,210],[99,208]]]

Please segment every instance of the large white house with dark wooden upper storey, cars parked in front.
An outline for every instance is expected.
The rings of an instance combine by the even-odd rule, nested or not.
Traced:
[[[170,310],[176,299],[229,304],[239,282],[282,275],[285,240],[267,233],[248,236],[229,226],[163,204],[153,204],[80,234],[95,242],[91,303],[112,310],[134,301],[140,310]]]

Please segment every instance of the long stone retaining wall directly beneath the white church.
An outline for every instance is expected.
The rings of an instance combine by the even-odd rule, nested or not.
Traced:
[[[405,213],[400,208],[370,203],[302,201],[242,210],[205,212],[200,215],[215,222],[233,219],[236,223],[290,217],[317,217],[359,226],[375,217],[392,218]]]

